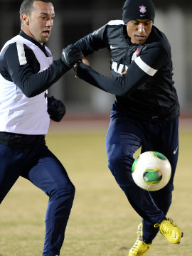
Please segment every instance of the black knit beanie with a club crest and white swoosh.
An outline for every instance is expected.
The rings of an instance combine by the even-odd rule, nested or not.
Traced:
[[[149,19],[154,22],[155,7],[151,0],[127,0],[123,6],[124,23],[136,19]]]

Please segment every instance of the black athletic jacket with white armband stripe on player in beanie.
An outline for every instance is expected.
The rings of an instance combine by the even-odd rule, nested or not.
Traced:
[[[85,56],[100,48],[110,50],[112,78],[83,63],[78,65],[78,77],[116,95],[114,107],[119,112],[151,122],[178,117],[171,47],[158,28],[153,26],[146,43],[138,46],[130,43],[122,21],[110,21],[75,46]]]

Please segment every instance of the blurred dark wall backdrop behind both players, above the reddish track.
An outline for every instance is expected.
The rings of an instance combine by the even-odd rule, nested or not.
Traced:
[[[20,31],[20,0],[0,0],[0,47]],[[124,0],[53,0],[55,20],[48,47],[54,58],[60,58],[63,48],[95,31],[113,19],[122,19]],[[192,113],[192,36],[191,0],[154,0],[154,25],[169,38],[174,62],[174,81],[181,104],[181,117]],[[110,55],[99,50],[88,57],[92,68],[110,76]],[[114,96],[75,78],[70,70],[53,85],[49,95],[63,100],[66,118],[109,117]]]

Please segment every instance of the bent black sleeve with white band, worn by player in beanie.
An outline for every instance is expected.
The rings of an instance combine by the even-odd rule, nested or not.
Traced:
[[[95,87],[110,92],[113,95],[122,96],[137,89],[155,75],[166,60],[164,48],[154,47],[146,49],[138,58],[136,58],[127,70],[127,73],[117,78],[109,78],[100,75],[84,63],[79,63],[77,75],[82,80],[94,85]]]

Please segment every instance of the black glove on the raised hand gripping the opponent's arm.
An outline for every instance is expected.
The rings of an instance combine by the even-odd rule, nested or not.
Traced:
[[[69,68],[72,68],[75,63],[81,60],[83,57],[80,50],[75,47],[73,44],[69,45],[67,48],[64,48],[61,54],[61,60]]]

